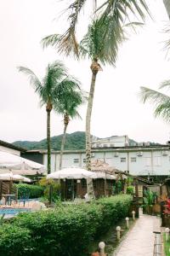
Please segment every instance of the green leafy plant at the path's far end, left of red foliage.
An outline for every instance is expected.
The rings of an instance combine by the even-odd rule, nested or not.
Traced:
[[[145,211],[149,214],[152,213],[152,207],[156,201],[156,192],[150,191],[150,189],[144,190],[144,207]]]

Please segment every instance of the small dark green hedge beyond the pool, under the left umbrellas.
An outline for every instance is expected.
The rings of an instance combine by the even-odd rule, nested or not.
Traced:
[[[15,184],[16,188],[18,189],[18,197],[22,197],[24,195],[29,195],[30,198],[38,198],[43,195],[43,188],[39,185],[30,185],[19,183]]]

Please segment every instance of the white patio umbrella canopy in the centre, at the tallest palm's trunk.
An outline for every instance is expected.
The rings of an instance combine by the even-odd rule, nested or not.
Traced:
[[[96,173],[89,172],[82,168],[65,168],[57,172],[52,172],[47,175],[48,178],[54,178],[54,179],[81,179],[81,178],[97,178]]]

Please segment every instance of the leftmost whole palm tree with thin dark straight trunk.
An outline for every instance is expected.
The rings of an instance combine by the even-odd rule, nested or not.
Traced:
[[[48,64],[45,76],[40,81],[36,74],[27,67],[18,67],[19,71],[25,73],[35,92],[40,96],[41,106],[46,105],[47,111],[47,144],[48,144],[48,173],[51,172],[51,142],[50,142],[50,113],[60,95],[71,90],[72,84],[77,80],[68,76],[65,65],[60,61]]]

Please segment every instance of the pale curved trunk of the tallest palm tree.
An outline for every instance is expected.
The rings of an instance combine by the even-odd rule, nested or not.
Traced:
[[[90,132],[90,125],[91,125],[91,116],[92,116],[92,108],[94,102],[94,88],[95,88],[95,81],[96,76],[99,70],[99,64],[97,60],[94,60],[91,65],[92,70],[92,80],[91,80],[91,87],[90,93],[88,96],[88,109],[86,114],[86,169],[91,171],[91,132]],[[91,178],[87,179],[87,192],[88,196],[94,198],[94,185],[93,180]]]

